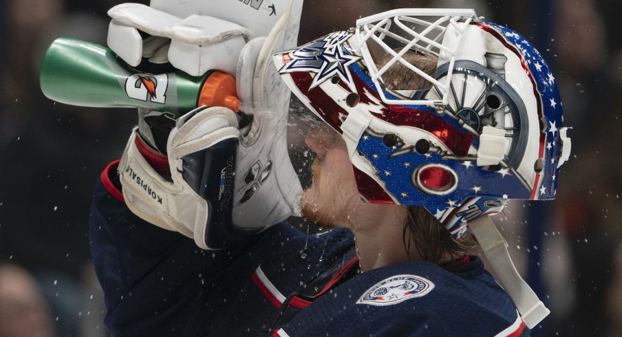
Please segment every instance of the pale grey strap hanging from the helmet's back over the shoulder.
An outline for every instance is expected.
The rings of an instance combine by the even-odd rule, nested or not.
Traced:
[[[518,274],[508,253],[508,243],[487,215],[469,221],[469,228],[484,250],[486,259],[501,285],[512,298],[525,325],[533,329],[550,311]]]

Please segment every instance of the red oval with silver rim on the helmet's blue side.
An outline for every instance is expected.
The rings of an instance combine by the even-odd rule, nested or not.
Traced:
[[[414,172],[413,181],[426,193],[446,195],[458,186],[458,175],[449,166],[425,164]]]

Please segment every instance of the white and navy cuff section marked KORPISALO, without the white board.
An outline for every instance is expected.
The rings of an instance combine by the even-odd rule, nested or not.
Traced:
[[[231,209],[238,136],[230,109],[201,107],[186,113],[167,144],[169,180],[138,150],[142,140],[135,129],[119,165],[127,206],[151,224],[193,238],[201,248],[221,248],[235,239]]]

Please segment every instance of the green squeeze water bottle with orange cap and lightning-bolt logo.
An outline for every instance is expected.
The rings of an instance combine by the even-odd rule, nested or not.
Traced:
[[[239,109],[235,80],[224,72],[200,77],[181,71],[140,73],[122,65],[107,47],[76,39],[50,45],[39,82],[47,98],[81,107],[142,107],[177,117],[200,105]]]

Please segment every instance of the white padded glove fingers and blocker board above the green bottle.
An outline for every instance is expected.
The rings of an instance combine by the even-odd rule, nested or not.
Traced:
[[[295,39],[303,0],[151,0],[122,3],[108,11],[108,46],[131,67],[170,63],[191,76],[218,69],[235,74],[246,42],[268,36],[286,12]],[[144,37],[146,36],[146,37]],[[280,50],[279,50],[280,51]],[[214,57],[214,56],[217,57]]]

